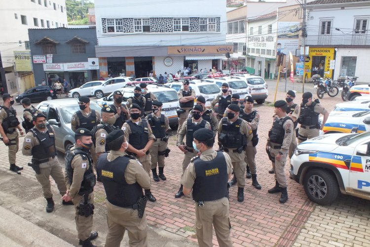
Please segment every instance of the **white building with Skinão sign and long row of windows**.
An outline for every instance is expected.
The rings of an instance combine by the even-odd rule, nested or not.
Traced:
[[[95,0],[100,76],[222,69],[225,0]]]

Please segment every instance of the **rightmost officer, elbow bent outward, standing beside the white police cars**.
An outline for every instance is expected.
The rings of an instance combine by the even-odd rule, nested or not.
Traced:
[[[312,93],[305,92],[302,95],[298,123],[298,144],[313,137],[319,136],[319,129],[323,129],[329,117],[329,112],[318,102],[312,100]],[[323,124],[319,124],[319,115],[324,115]]]

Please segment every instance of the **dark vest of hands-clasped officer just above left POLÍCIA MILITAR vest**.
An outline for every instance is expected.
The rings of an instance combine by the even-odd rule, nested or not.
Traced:
[[[142,119],[142,125],[135,124],[131,120],[127,120],[126,123],[130,126],[131,134],[129,135],[130,144],[137,150],[145,148],[148,143],[148,122]]]

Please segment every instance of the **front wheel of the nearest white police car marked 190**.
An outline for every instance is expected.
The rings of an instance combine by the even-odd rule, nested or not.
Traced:
[[[307,197],[314,203],[328,205],[339,195],[339,186],[333,173],[324,169],[309,170],[303,179]]]

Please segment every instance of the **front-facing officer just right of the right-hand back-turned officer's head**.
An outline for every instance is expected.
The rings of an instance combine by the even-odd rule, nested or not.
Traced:
[[[227,117],[222,118],[219,124],[219,142],[231,158],[235,177],[238,184],[238,201],[244,201],[245,169],[244,149],[252,140],[252,128],[244,120],[239,118],[240,107],[230,104],[227,107]]]

